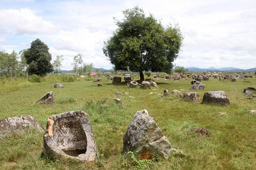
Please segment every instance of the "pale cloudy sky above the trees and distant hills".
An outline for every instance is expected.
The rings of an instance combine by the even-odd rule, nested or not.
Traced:
[[[64,56],[63,70],[72,69],[79,53],[84,63],[111,69],[104,41],[117,28],[113,17],[121,20],[134,6],[163,25],[179,24],[184,42],[177,66],[256,67],[255,0],[0,0],[0,51],[19,52],[39,38],[53,59]]]

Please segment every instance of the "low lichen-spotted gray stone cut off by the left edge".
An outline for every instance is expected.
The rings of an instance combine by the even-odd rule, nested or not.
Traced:
[[[9,117],[0,120],[0,137],[6,134],[22,133],[24,129],[33,128],[43,131],[38,121],[34,117],[28,115],[26,117]]]

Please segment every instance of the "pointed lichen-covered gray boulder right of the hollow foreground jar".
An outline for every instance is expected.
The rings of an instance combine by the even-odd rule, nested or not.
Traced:
[[[123,137],[123,152],[129,151],[138,159],[168,159],[171,155],[170,142],[146,109],[135,114]]]

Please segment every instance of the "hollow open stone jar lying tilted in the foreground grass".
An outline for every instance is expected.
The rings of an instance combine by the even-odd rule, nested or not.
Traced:
[[[92,165],[98,161],[98,150],[89,117],[82,111],[48,117],[44,134],[44,153],[51,159],[77,159]]]

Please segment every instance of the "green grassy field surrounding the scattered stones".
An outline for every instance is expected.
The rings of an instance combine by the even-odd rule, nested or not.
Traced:
[[[255,78],[237,82],[220,82],[210,78],[199,92],[201,101],[205,91],[223,90],[230,106],[207,105],[184,101],[176,95],[159,97],[163,90],[184,89],[191,92],[191,80],[156,80],[158,87],[141,90],[128,86],[114,86],[102,78],[67,82],[60,78],[45,78],[42,83],[27,80],[0,80],[0,120],[14,116],[33,116],[46,129],[47,118],[53,114],[81,109],[89,115],[100,154],[100,162],[92,169],[255,169],[256,167],[256,110],[255,99],[247,99],[243,88],[256,87]],[[56,83],[64,88],[53,88]],[[56,106],[36,104],[44,94],[53,91]],[[122,95],[115,94],[122,92]],[[127,92],[129,95],[125,95]],[[153,92],[153,95],[150,95]],[[133,98],[129,97],[133,96]],[[114,103],[123,100],[125,109]],[[147,109],[162,129],[172,147],[185,154],[172,153],[168,160],[135,161],[124,155],[123,135],[134,114]],[[228,115],[217,115],[226,112]],[[200,137],[191,128],[207,128],[209,137]],[[75,160],[53,162],[43,154],[43,134],[27,130],[24,134],[0,138],[0,169],[89,169]]]

